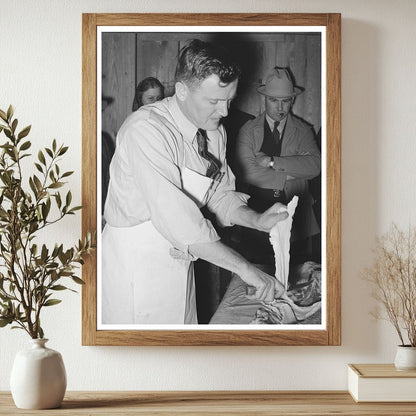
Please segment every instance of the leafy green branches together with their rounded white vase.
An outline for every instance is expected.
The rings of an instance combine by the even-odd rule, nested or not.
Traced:
[[[12,369],[16,405],[51,408],[63,399],[66,375],[61,355],[45,346],[41,312],[61,302],[55,294],[74,291],[64,280],[83,283],[76,273],[93,241],[88,233],[68,249],[40,242],[39,233],[81,207],[71,205],[71,191],[62,191],[73,172],[61,171],[59,161],[68,147],[56,140],[39,150],[36,173],[24,179],[22,160],[31,156],[26,138],[30,126],[18,132],[13,113],[12,106],[0,110],[0,136],[5,137],[0,144],[0,327],[20,328],[32,339],[32,348],[17,354]]]

